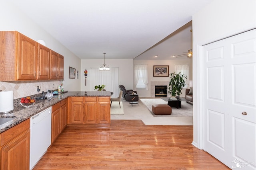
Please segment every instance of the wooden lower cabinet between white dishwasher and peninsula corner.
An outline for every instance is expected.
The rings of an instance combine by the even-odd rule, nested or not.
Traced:
[[[52,143],[67,125],[67,99],[52,106]]]

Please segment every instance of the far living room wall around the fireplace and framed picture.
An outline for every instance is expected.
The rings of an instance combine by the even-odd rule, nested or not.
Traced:
[[[169,74],[172,72],[175,72],[174,66],[176,64],[188,64],[189,69],[190,69],[190,77],[188,78],[189,80],[192,80],[192,59],[184,56],[180,57],[179,59],[173,59],[173,60],[134,60],[134,64],[148,64],[148,90],[139,90],[136,89],[140,97],[150,97],[150,82],[169,82],[170,81],[170,76],[168,77],[154,77],[153,76],[153,68],[154,65],[164,65],[164,66],[169,66]],[[166,84],[168,86],[168,84]],[[134,85],[135,86],[135,85]],[[135,89],[135,87],[134,87]],[[184,93],[182,92],[182,95]]]

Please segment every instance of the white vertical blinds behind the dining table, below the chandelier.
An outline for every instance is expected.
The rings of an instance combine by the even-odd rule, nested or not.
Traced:
[[[106,85],[106,91],[113,92],[113,98],[119,96],[120,89],[118,87],[118,68],[110,68],[109,71],[100,71],[99,68],[91,68],[92,75],[92,91],[94,86]]]

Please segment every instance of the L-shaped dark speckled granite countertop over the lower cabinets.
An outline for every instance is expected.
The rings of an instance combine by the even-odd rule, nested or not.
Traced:
[[[14,106],[14,110],[11,113],[0,114],[0,118],[14,118],[11,121],[8,121],[0,125],[0,133],[14,127],[15,125],[21,123],[22,121],[29,119],[33,115],[40,113],[41,111],[47,109],[50,106],[68,98],[68,97],[93,97],[93,96],[111,96],[111,92],[108,91],[88,91],[88,92],[67,92],[54,95],[50,100],[49,99],[39,99],[36,100],[36,103],[29,107],[23,107],[20,104]]]

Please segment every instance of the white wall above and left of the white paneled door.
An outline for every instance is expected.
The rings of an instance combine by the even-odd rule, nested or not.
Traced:
[[[193,16],[193,145],[202,149],[200,46],[255,27],[255,0],[214,0]]]

